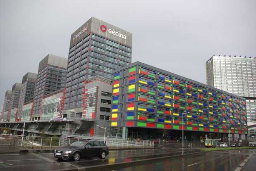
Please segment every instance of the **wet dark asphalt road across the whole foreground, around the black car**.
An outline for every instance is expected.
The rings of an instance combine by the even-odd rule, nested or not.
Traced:
[[[109,155],[105,159],[81,159],[77,162],[59,160],[53,156],[53,153],[9,153],[0,154],[0,170],[50,171],[77,170],[77,168],[80,168],[86,171],[234,171],[249,155],[256,159],[255,150],[218,152],[199,152],[199,149],[193,148],[110,150]],[[124,167],[126,168],[122,169]]]

